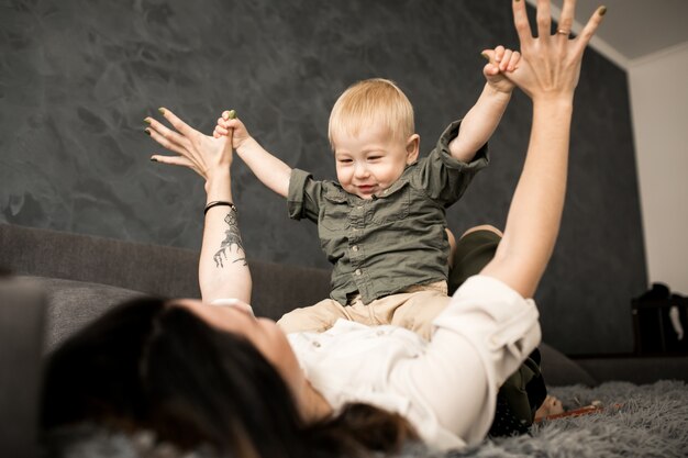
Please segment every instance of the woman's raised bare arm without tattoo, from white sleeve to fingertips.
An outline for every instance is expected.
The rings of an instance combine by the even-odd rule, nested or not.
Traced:
[[[565,0],[559,30],[551,35],[548,2],[537,5],[537,38],[532,36],[525,1],[513,0],[513,16],[523,58],[507,77],[533,101],[528,155],[517,186],[504,236],[495,259],[481,273],[496,277],[530,298],[552,256],[566,190],[568,141],[574,91],[588,42],[607,9],[598,8],[569,40],[575,0]]]

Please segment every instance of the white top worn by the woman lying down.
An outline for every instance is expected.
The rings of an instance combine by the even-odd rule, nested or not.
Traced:
[[[485,438],[497,390],[540,343],[537,316],[532,300],[475,276],[434,320],[431,342],[402,327],[345,320],[288,338],[335,412],[347,402],[397,412],[430,447],[446,449]]]

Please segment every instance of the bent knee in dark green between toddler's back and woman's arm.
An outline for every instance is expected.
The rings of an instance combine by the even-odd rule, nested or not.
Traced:
[[[480,270],[495,257],[502,233],[495,226],[485,224],[466,231],[450,255],[450,295],[462,286],[468,277],[480,273]],[[450,245],[452,239],[450,237]]]

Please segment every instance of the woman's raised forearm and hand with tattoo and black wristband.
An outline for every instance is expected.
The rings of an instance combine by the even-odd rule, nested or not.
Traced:
[[[146,118],[151,125],[146,133],[177,156],[154,155],[151,159],[188,167],[206,179],[206,224],[198,269],[203,302],[233,298],[249,303],[251,271],[232,200],[231,135],[213,138],[190,127],[171,111],[160,112],[174,130]],[[199,205],[199,217],[202,213]]]

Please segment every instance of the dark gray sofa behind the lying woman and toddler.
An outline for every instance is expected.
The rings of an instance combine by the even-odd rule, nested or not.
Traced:
[[[198,253],[0,224],[1,456],[31,456],[41,359],[75,329],[142,294],[198,298]],[[256,314],[279,317],[329,292],[329,271],[249,260]],[[12,275],[8,275],[11,272]],[[598,380],[543,344],[551,386]]]

